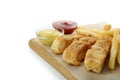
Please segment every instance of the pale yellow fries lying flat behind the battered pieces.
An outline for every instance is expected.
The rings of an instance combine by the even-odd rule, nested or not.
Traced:
[[[90,35],[95,37],[101,37],[101,36],[113,36],[113,33],[116,31],[116,29],[111,29],[110,24],[106,24],[103,26],[103,29],[95,29],[95,28],[86,28],[85,26],[80,26],[76,29],[77,34],[82,35]]]

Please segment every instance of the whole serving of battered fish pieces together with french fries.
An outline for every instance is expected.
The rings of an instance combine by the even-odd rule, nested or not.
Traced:
[[[51,46],[54,53],[63,53],[66,63],[77,66],[84,60],[88,71],[100,73],[110,54],[109,69],[115,68],[116,61],[120,65],[120,29],[99,23],[80,26],[74,33],[56,38]]]

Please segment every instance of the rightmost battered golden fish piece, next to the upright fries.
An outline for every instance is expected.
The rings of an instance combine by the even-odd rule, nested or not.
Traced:
[[[85,67],[96,73],[102,71],[105,59],[109,54],[112,38],[104,36],[97,40],[97,42],[89,49],[85,57]]]

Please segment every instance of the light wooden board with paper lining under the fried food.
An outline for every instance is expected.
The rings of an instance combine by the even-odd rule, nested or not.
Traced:
[[[68,80],[120,80],[120,67],[118,65],[115,70],[110,71],[106,62],[103,71],[97,74],[87,71],[84,62],[81,66],[65,63],[61,55],[54,54],[50,47],[42,45],[37,38],[30,39],[29,46]]]

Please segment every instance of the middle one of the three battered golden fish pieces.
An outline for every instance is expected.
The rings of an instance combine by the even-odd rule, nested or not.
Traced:
[[[74,40],[63,52],[63,60],[72,65],[80,65],[85,58],[86,51],[96,42],[95,37],[84,36]]]

